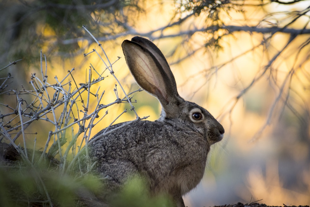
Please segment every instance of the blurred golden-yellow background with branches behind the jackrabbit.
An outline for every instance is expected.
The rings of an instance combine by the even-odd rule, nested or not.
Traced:
[[[122,41],[138,35],[160,48],[179,94],[225,128],[202,182],[184,196],[185,205],[310,204],[309,0],[4,0],[0,10],[0,67],[23,59],[0,71],[1,77],[14,77],[11,88],[29,88],[30,75],[40,70],[41,50],[49,79],[62,79],[75,68],[75,80],[85,82],[90,64],[103,71],[99,56],[83,55],[98,44],[82,25],[116,61],[114,74],[126,92],[139,86],[126,66]],[[100,83],[102,104],[116,99],[116,81],[107,75]],[[138,92],[134,99],[140,117],[159,117],[154,97]],[[14,96],[0,100],[15,104]],[[4,106],[1,114],[7,113]],[[92,135],[126,108],[108,108]],[[128,110],[116,122],[133,119]],[[27,130],[32,143],[38,125]],[[36,136],[42,146],[50,130],[53,125],[40,125]]]

